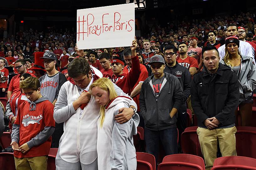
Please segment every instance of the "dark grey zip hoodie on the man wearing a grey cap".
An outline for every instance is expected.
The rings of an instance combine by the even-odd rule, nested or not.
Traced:
[[[139,95],[140,114],[144,118],[145,128],[149,130],[164,130],[176,128],[177,114],[170,117],[172,108],[179,110],[183,103],[182,88],[178,78],[164,73],[158,98],[155,97],[152,78],[148,77],[141,86]]]

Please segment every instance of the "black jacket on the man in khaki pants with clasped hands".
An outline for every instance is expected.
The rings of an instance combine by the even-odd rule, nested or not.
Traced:
[[[215,117],[221,126],[235,123],[235,110],[239,102],[239,84],[236,73],[230,67],[219,63],[215,74],[204,66],[191,81],[191,103],[198,119],[198,126],[207,118]]]

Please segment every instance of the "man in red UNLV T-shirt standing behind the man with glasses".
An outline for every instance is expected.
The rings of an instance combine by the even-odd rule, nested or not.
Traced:
[[[198,70],[198,64],[195,58],[192,58],[187,55],[187,45],[185,42],[181,42],[179,45],[180,56],[176,58],[176,61],[183,67],[187,68],[193,76]]]

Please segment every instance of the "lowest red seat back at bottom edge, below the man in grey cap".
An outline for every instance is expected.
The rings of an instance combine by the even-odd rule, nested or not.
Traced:
[[[157,167],[158,170],[204,170],[199,165],[193,163],[185,163],[185,162],[164,162],[160,163]]]

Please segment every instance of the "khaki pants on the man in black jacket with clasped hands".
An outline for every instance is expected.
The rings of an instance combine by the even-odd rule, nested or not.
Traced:
[[[219,141],[222,157],[237,156],[236,151],[236,127],[222,129],[205,129],[198,127],[198,135],[201,151],[205,160],[205,169],[210,170],[217,158],[217,143]]]

